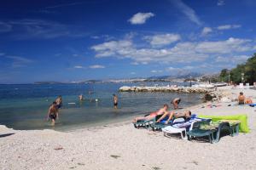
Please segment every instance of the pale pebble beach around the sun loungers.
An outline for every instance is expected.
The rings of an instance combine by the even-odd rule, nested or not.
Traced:
[[[219,89],[231,97],[241,90]],[[243,91],[256,102],[255,90]],[[247,114],[251,133],[225,136],[218,144],[169,139],[160,132],[136,129],[131,120],[67,132],[0,125],[1,135],[10,134],[0,138],[0,169],[253,169],[256,108],[228,106],[231,103],[186,108],[204,115]]]

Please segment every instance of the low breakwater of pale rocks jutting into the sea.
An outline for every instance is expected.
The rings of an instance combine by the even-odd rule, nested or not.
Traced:
[[[186,93],[186,94],[208,94],[211,93],[213,89],[211,88],[190,88],[190,87],[137,87],[137,86],[123,86],[119,88],[119,92],[176,92],[176,93]]]

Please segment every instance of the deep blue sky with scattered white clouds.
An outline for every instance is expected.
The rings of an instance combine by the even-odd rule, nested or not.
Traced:
[[[1,1],[0,83],[218,72],[256,51],[253,0]]]

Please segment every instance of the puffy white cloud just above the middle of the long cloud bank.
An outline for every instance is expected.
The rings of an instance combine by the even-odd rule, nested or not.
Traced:
[[[177,42],[181,39],[179,34],[159,34],[154,36],[146,36],[144,39],[148,40],[152,46],[168,45],[172,42]]]

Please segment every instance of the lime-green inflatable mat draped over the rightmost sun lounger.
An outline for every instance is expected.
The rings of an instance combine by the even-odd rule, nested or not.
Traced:
[[[248,133],[250,131],[247,124],[247,115],[232,115],[232,116],[206,116],[200,115],[201,118],[212,118],[212,122],[218,122],[219,120],[238,120],[239,124],[239,132]]]

